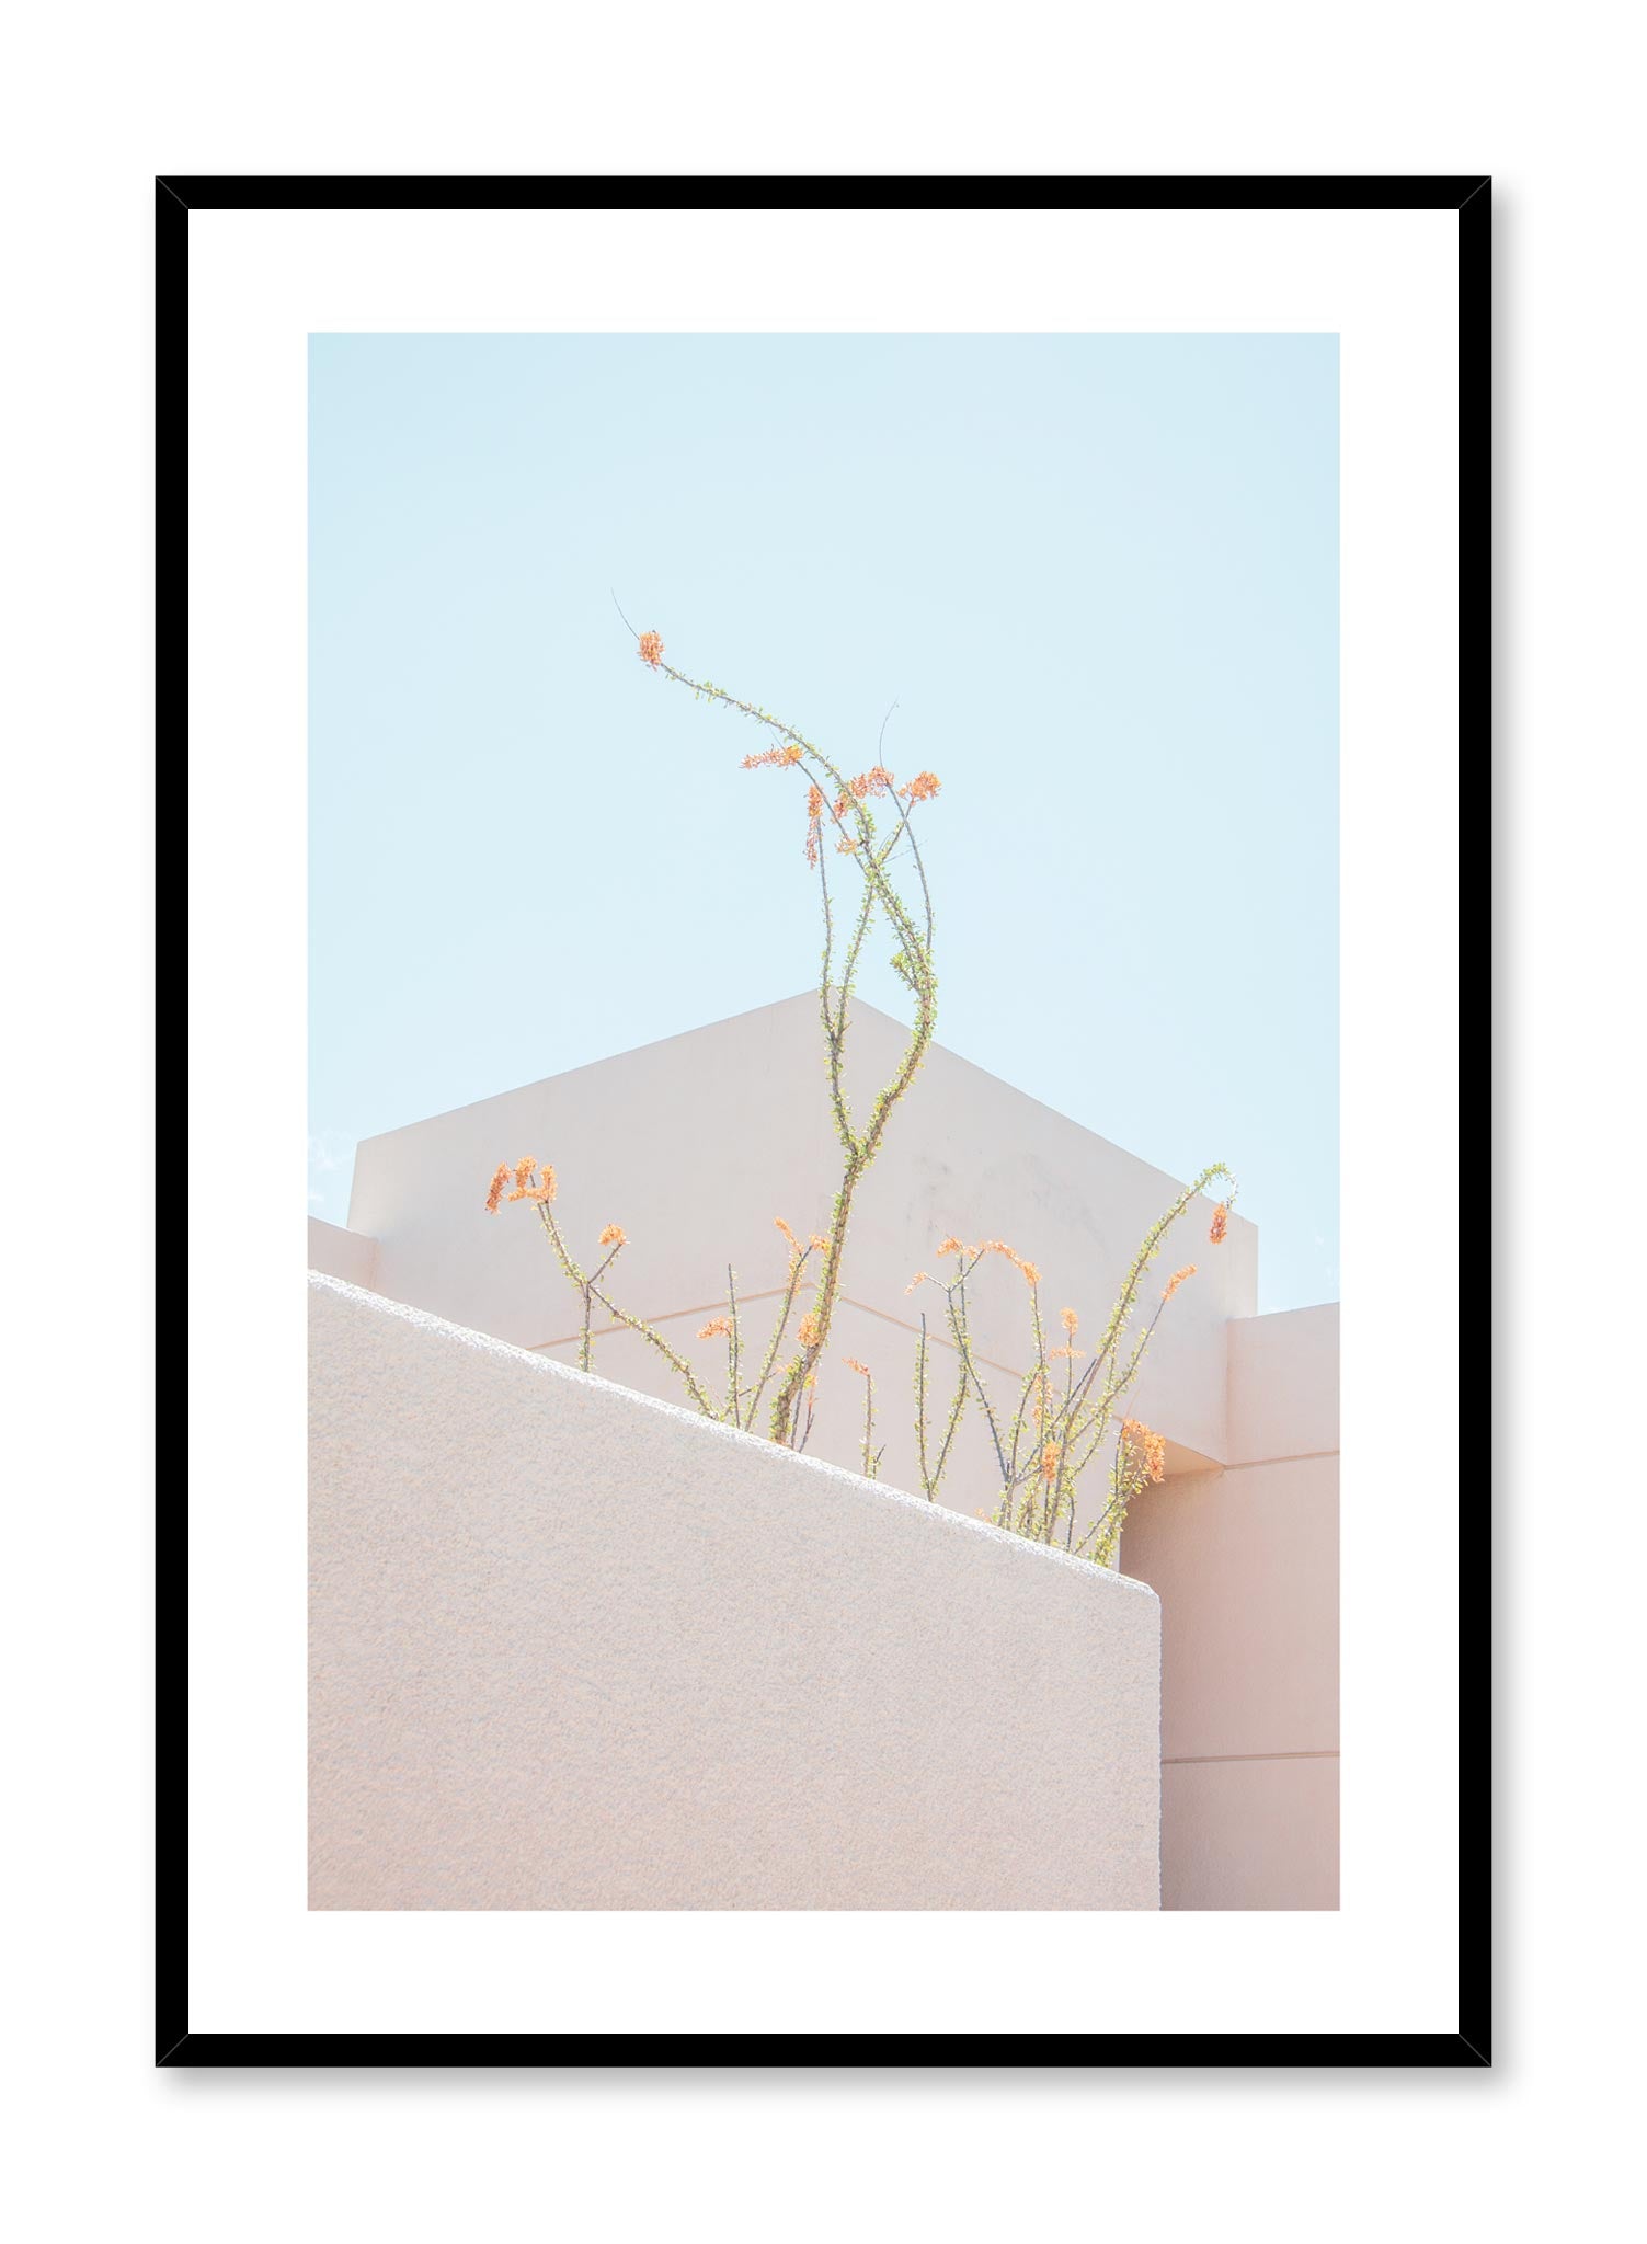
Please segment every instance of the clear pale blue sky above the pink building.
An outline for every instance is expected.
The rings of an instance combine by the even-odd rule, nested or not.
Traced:
[[[314,337],[310,1205],[812,983],[776,709],[936,770],[938,1041],[1337,1297],[1337,339]],[[884,967],[864,994],[904,1012]]]

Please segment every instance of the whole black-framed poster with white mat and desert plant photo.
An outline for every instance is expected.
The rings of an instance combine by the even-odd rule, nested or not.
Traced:
[[[1488,247],[157,182],[159,2064],[1490,2060]]]

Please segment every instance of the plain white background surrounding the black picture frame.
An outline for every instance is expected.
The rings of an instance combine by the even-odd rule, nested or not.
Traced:
[[[774,2208],[790,2237],[830,2244],[848,2228],[999,2237],[1086,2226],[1095,2192],[1106,2226],[1156,2240],[1214,2224],[1283,2240],[1324,2222],[1351,2240],[1517,2217],[1607,2228],[1634,2141],[1618,1919],[1638,1849],[1616,1773],[1636,1757],[1640,1508],[1598,1517],[1598,1562],[1573,1593],[1553,1595],[1535,1557],[1551,1490],[1568,1486],[1573,1427],[1607,1423],[1602,1398],[1636,1387],[1634,1257],[1593,1223],[1598,1180],[1634,1189],[1640,1059],[1598,960],[1638,942],[1647,826],[1640,763],[1618,752],[1636,709],[1645,496],[1640,310],[1620,278],[1636,263],[1638,96],[1620,22],[1582,0],[1526,38],[1481,0],[1400,0],[1369,38],[1362,18],[1301,0],[1171,18],[1032,4],[1005,52],[976,18],[924,7],[848,11],[826,45],[770,9],[646,0],[622,16],[500,9],[469,43],[444,13],[303,0],[278,36],[267,18],[204,4],[22,27],[7,206],[25,348],[4,368],[20,512],[0,568],[22,669],[9,684],[11,826],[29,846],[0,907],[9,956],[49,956],[52,972],[13,992],[31,1086],[4,1115],[13,1178],[63,1174],[65,1138],[85,1138],[90,1118],[117,1122],[119,1144],[101,1129],[88,1142],[119,1153],[144,1192],[150,1174],[148,175],[691,168],[711,162],[691,83],[709,67],[738,114],[767,114],[783,83],[781,130],[732,146],[732,164],[1494,166],[1508,352],[1499,819],[1519,999],[1501,1048],[1512,1122],[1497,1236],[1501,1589],[1519,1674],[1501,1717],[1497,2076],[153,2073],[141,1203],[114,1270],[94,1221],[70,1234],[96,1214],[90,1201],[34,1189],[13,1210],[16,1266],[31,1277],[11,1288],[7,1337],[27,1367],[9,1427],[29,1492],[13,1510],[13,1580],[38,1593],[16,1600],[4,1640],[11,1703],[49,1705],[11,1735],[13,1797],[31,1806],[4,1865],[20,1934],[11,2190],[34,2235],[215,2240],[224,2206],[240,2237],[283,2244],[539,2228],[550,2170],[568,2235],[624,2240],[767,2237]],[[213,1156],[231,1147],[197,1149]],[[1479,1218],[1485,1239],[1485,1174]],[[119,1344],[96,1355],[81,1346],[88,1272],[126,1304]],[[52,1593],[67,1582],[72,1598]]]

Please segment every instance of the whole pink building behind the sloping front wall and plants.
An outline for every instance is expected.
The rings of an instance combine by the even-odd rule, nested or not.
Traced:
[[[891,1073],[902,1037],[895,1021],[855,1008],[855,1097],[873,1095]],[[458,1328],[574,1362],[579,1304],[534,1210],[485,1212],[496,1165],[523,1156],[554,1162],[556,1214],[579,1252],[604,1225],[624,1225],[615,1297],[660,1326],[705,1378],[723,1376],[720,1344],[696,1333],[725,1308],[727,1263],[758,1324],[785,1277],[774,1218],[799,1234],[828,1223],[837,1162],[817,999],[366,1140],[350,1225],[310,1223],[312,1266]],[[1068,1302],[1091,1331],[1138,1239],[1180,1189],[933,1048],[859,1192],[830,1335],[832,1358],[853,1355],[875,1371],[882,1481],[920,1488],[913,1351],[920,1304],[940,1306],[940,1297],[909,1293],[909,1281],[947,1232],[1007,1239],[1041,1266],[1043,1299]],[[1160,1901],[1169,1910],[1333,1910],[1337,1308],[1259,1317],[1257,1230],[1236,1214],[1212,1245],[1209,1212],[1191,1203],[1158,1263],[1167,1272],[1194,1261],[1196,1277],[1174,1297],[1131,1400],[1167,1436],[1167,1481],[1133,1506],[1120,1551],[1120,1573],[1160,1600]],[[1012,1391],[1028,1333],[1023,1284],[1005,1263],[976,1288],[974,1335],[987,1378]],[[595,1349],[599,1378],[680,1400],[671,1369],[633,1333],[597,1328]],[[936,1378],[949,1360],[933,1335]],[[837,1378],[821,1378],[812,1452],[857,1470],[862,1416],[855,1373],[839,1367]],[[942,1501],[967,1517],[992,1508],[992,1470],[974,1414]]]

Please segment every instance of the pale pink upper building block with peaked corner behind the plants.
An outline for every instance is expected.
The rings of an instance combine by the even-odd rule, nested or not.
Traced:
[[[859,1115],[902,1046],[898,1021],[853,1005],[848,1088]],[[839,1176],[817,996],[368,1138],[355,1158],[350,1227],[379,1241],[372,1284],[527,1349],[574,1333],[577,1304],[534,1212],[487,1216],[482,1207],[491,1169],[523,1153],[556,1165],[559,1212],[574,1241],[592,1245],[606,1223],[626,1227],[631,1245],[615,1272],[626,1306],[702,1322],[725,1302],[734,1263],[758,1319],[754,1297],[781,1288],[785,1275],[772,1218],[801,1234],[826,1230]],[[942,1306],[929,1288],[909,1295],[907,1286],[931,1268],[945,1232],[1007,1239],[1041,1266],[1050,1310],[1073,1304],[1091,1333],[1178,1189],[1165,1171],[933,1046],[859,1187],[844,1302],[862,1319],[830,1353],[864,1355],[902,1423],[922,1302],[929,1315]],[[1178,1263],[1198,1263],[1133,1398],[1142,1418],[1200,1463],[1225,1456],[1225,1322],[1257,1304],[1254,1227],[1232,1216],[1227,1241],[1212,1248],[1209,1214],[1194,1203],[1151,1272],[1158,1288]],[[1021,1277],[1005,1263],[985,1268],[974,1304],[978,1353],[1019,1371],[1028,1349]],[[671,1331],[671,1340],[682,1335]],[[684,1353],[705,1371],[720,1369],[716,1344],[687,1337]],[[626,1360],[610,1364],[617,1378],[635,1376]],[[830,1441],[830,1454],[850,1450]]]

